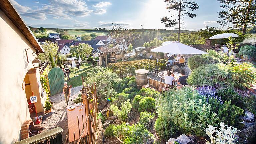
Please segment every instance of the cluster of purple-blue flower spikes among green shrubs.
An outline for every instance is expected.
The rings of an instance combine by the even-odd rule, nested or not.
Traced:
[[[197,89],[198,93],[200,95],[203,95],[206,97],[206,101],[209,101],[209,98],[217,99],[221,104],[223,104],[223,101],[221,100],[221,97],[217,96],[217,89],[212,86],[200,86]]]

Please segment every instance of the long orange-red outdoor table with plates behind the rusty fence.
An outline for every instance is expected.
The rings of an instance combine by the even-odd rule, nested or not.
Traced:
[[[69,142],[74,141],[74,133],[75,133],[75,139],[76,140],[79,139],[80,132],[83,129],[82,116],[83,116],[83,120],[84,120],[84,126],[86,126],[85,106],[84,105],[81,106],[82,107],[81,110],[79,110],[79,107],[77,107],[76,105],[72,105],[72,106],[75,106],[75,108],[72,109],[72,110],[69,110],[67,108]],[[80,132],[79,132],[79,129],[78,129],[77,116],[78,116],[78,119],[79,119]],[[86,131],[86,128],[85,128],[84,134],[81,137],[83,138],[86,135],[87,135],[87,131]]]

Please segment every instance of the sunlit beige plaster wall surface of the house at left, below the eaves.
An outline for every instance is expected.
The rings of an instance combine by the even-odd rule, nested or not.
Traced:
[[[25,90],[21,84],[33,68],[33,49],[22,33],[0,10],[0,143],[19,140],[21,125],[30,119]]]

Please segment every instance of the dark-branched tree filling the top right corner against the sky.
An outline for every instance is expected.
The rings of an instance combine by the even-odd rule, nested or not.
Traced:
[[[246,32],[248,25],[256,24],[256,2],[255,0],[218,0],[223,9],[219,12],[217,21],[221,26],[233,24],[235,28],[243,28],[242,34]]]

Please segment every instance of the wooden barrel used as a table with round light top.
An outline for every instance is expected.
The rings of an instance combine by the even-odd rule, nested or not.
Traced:
[[[145,69],[138,69],[134,71],[136,73],[135,79],[136,79],[136,84],[137,88],[142,88],[142,86],[148,84],[148,73],[149,70]]]

